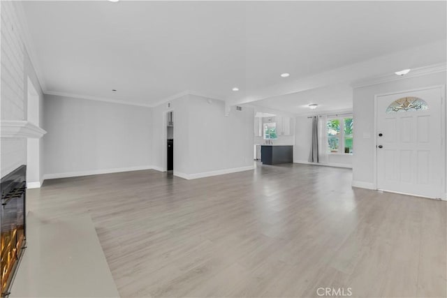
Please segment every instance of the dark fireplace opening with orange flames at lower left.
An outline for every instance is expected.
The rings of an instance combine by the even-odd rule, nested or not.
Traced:
[[[1,178],[1,297],[9,295],[11,282],[26,242],[27,166],[21,165]]]

